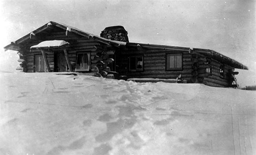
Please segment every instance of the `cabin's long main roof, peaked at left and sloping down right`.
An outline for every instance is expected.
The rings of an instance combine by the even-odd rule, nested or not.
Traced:
[[[11,44],[4,47],[5,51],[8,49],[14,51],[20,51],[22,48],[30,48],[31,46],[38,45],[42,41],[47,40],[65,40],[72,44],[78,38],[83,39],[94,39],[98,42],[102,42],[106,45],[112,45],[116,47],[126,47],[126,48],[137,48],[144,50],[147,52],[147,49],[174,49],[178,51],[187,51],[189,53],[194,53],[198,55],[204,55],[205,57],[210,57],[216,59],[222,63],[226,63],[231,67],[235,67],[236,69],[244,69],[248,70],[248,67],[239,63],[238,61],[226,57],[223,54],[220,54],[211,49],[201,49],[201,48],[189,48],[189,47],[177,47],[177,46],[166,46],[166,45],[153,45],[153,44],[141,44],[135,42],[123,42],[123,41],[114,41],[102,38],[101,36],[97,36],[88,32],[84,32],[83,30],[79,30],[77,28],[67,26],[66,24],[58,23],[50,21],[44,24],[42,27],[39,27],[33,32],[23,36],[22,38],[11,42]],[[56,46],[57,47],[57,46]]]

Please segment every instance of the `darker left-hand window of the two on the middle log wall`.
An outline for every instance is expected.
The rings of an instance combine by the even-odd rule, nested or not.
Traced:
[[[129,71],[143,71],[143,55],[129,57]]]

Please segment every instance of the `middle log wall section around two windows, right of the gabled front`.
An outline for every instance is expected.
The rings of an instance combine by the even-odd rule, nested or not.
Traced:
[[[118,52],[117,52],[118,53]],[[167,53],[183,53],[183,70],[181,71],[167,71],[166,70],[166,54]],[[129,56],[143,55],[143,71],[130,72]],[[126,51],[126,54],[117,55],[117,62],[119,66],[118,72],[120,75],[127,76],[127,78],[164,78],[176,79],[182,75],[183,79],[189,80],[191,77],[191,55],[184,51],[170,51],[170,50],[149,50],[146,52],[134,50]]]

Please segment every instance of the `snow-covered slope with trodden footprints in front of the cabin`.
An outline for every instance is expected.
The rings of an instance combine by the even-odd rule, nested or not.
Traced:
[[[0,73],[0,154],[256,154],[256,91]]]

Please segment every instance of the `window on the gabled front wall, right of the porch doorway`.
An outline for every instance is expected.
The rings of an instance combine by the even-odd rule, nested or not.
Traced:
[[[75,64],[75,71],[89,71],[90,70],[90,53],[77,53],[77,63]]]

